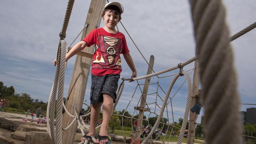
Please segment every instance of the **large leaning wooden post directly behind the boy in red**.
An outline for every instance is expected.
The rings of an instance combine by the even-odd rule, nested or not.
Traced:
[[[90,33],[93,29],[95,29],[96,26],[100,25],[101,12],[105,4],[106,0],[91,0],[91,4],[85,21],[85,24],[89,24],[89,27],[83,31],[81,40],[86,37],[86,35]],[[91,46],[90,48],[86,47],[83,51],[93,53],[94,46]],[[85,94],[90,67],[91,58],[82,57],[80,55],[76,56],[76,62],[74,65],[67,101],[65,104],[67,110],[72,115],[75,115],[72,108],[73,105],[76,105],[78,113],[82,109],[83,98]],[[63,114],[62,126],[69,126],[72,120],[73,118],[71,118],[67,113]],[[75,122],[68,130],[62,131],[63,144],[73,144],[77,126],[78,124]]]

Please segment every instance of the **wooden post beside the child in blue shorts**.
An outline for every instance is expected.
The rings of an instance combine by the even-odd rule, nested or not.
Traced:
[[[197,48],[196,48],[197,54]],[[197,94],[199,85],[199,73],[198,73],[198,60],[195,61],[195,69],[193,75],[193,86],[192,86],[192,95]],[[190,109],[195,105],[195,98],[191,98]],[[193,114],[195,116],[195,113]],[[195,118],[195,117],[194,117]],[[187,136],[187,144],[194,144],[195,139],[195,123],[194,120],[189,122],[189,131]]]

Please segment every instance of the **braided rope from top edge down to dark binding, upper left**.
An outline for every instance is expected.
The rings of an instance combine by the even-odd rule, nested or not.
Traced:
[[[62,35],[63,38],[66,37],[66,31],[67,31],[67,27],[68,27],[68,24],[69,24],[69,18],[70,18],[71,12],[72,12],[73,5],[74,5],[74,0],[69,0],[67,10],[66,10],[66,14],[65,14],[65,18],[64,18],[64,21],[63,21],[63,26],[62,26],[62,29],[61,29],[61,35]]]

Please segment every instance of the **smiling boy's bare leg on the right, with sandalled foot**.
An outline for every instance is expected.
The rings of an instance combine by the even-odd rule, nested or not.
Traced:
[[[109,120],[111,117],[111,113],[113,110],[113,98],[109,96],[108,94],[103,94],[103,107],[102,107],[102,112],[103,112],[103,120],[102,124],[100,126],[100,133],[99,135],[101,136],[108,136],[108,124]],[[101,140],[100,144],[106,144],[108,143],[108,140]]]

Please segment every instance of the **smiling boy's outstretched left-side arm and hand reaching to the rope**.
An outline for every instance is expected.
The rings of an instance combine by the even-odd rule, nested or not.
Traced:
[[[73,48],[71,48],[71,50],[66,54],[65,61],[67,61],[68,59],[70,59],[70,57],[83,50],[87,45],[88,43],[85,41],[80,41],[77,44],[75,44]],[[53,65],[56,66],[56,59],[54,59]]]

